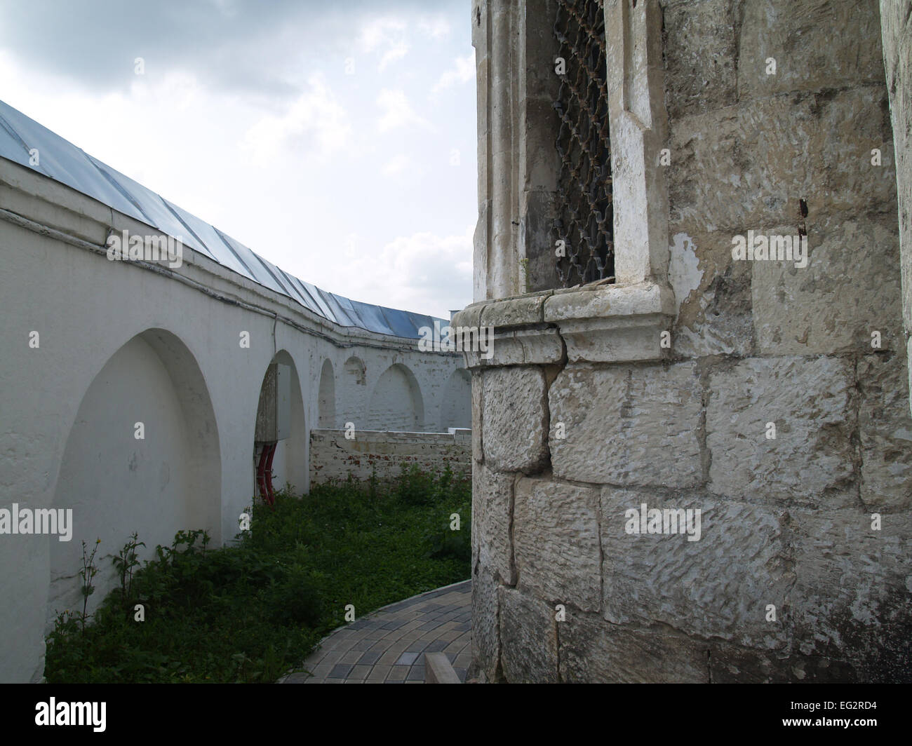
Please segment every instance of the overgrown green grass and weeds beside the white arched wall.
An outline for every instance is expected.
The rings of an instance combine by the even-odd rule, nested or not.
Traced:
[[[64,613],[47,638],[51,683],[271,682],[326,632],[470,575],[471,485],[412,470],[398,482],[324,485],[254,506],[239,544],[181,532],[155,559],[115,555],[121,587],[92,623]],[[451,531],[451,513],[461,530]],[[126,537],[125,537],[126,538]],[[141,537],[140,537],[141,538]],[[98,561],[96,561],[98,562]],[[135,620],[135,606],[145,621]]]

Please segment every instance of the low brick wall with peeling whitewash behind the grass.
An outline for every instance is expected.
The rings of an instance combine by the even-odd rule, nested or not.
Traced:
[[[395,479],[403,468],[441,473],[448,465],[454,473],[468,474],[472,463],[472,431],[381,432],[355,430],[310,431],[310,481],[312,484],[346,480],[351,474],[366,481],[376,472],[378,480]]]

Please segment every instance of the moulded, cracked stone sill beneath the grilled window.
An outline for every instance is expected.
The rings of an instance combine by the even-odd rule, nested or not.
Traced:
[[[634,362],[668,355],[661,333],[675,316],[668,285],[594,283],[481,301],[451,327],[492,326],[491,350],[464,351],[469,368],[570,362]]]

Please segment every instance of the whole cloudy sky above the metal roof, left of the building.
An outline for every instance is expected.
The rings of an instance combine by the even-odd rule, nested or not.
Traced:
[[[470,16],[468,0],[0,0],[0,98],[293,275],[449,318],[472,300]]]

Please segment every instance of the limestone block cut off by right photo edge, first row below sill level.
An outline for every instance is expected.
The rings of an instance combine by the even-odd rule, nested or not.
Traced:
[[[861,499],[873,508],[912,506],[912,417],[902,352],[858,360]]]

